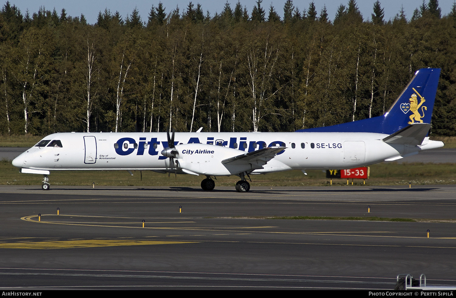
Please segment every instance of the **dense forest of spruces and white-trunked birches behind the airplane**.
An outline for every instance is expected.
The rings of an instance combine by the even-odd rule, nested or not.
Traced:
[[[250,11],[249,11],[250,10]],[[280,9],[281,10],[281,9]],[[331,17],[312,2],[192,2],[142,18],[0,10],[0,134],[295,131],[382,115],[415,71],[441,68],[432,133],[456,136],[456,4],[384,20],[377,1]]]

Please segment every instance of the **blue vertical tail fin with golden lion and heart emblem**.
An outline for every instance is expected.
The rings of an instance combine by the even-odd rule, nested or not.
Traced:
[[[383,115],[333,126],[301,129],[306,132],[377,132],[393,134],[412,123],[430,123],[440,68],[422,68]]]

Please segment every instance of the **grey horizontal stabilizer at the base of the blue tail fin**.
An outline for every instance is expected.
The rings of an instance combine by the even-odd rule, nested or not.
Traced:
[[[412,123],[383,139],[385,143],[400,145],[421,145],[430,130],[429,123]]]

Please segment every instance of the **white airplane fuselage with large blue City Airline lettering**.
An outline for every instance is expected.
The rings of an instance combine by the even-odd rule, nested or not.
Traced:
[[[201,167],[209,169],[211,165],[220,166],[222,157],[217,155],[219,146],[233,148],[231,152],[236,149],[239,155],[266,146],[286,147],[263,168],[255,169],[252,173],[292,169],[348,169],[443,146],[442,142],[429,141],[428,138],[422,146],[388,144],[382,141],[386,136],[388,135],[368,132],[177,132],[175,145],[213,145],[206,146],[210,150],[205,148],[180,152],[181,159],[185,160],[183,156],[187,156],[188,160],[201,163]],[[59,140],[62,147],[31,147],[17,157],[13,165],[34,170],[170,168],[169,158],[160,153],[168,147],[166,133],[56,133],[43,140]],[[222,174],[223,172],[220,173]]]

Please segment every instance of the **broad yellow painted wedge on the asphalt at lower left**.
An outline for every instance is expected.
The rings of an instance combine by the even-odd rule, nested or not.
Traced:
[[[183,244],[183,243],[198,243],[198,242],[189,242],[189,241],[151,241],[151,240],[95,240],[95,239],[88,239],[88,240],[68,240],[68,241],[0,243],[0,248],[58,249],[58,248],[82,248],[82,247],[155,245],[155,244]]]

